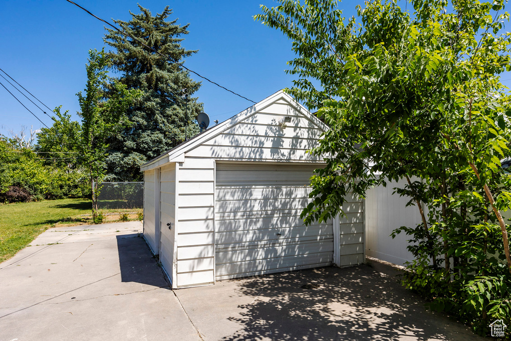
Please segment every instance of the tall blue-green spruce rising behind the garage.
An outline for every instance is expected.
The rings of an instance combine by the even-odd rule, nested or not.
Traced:
[[[202,103],[191,97],[200,87],[188,71],[168,61],[147,46],[182,63],[197,51],[181,47],[181,36],[188,34],[188,26],[167,21],[172,10],[166,7],[152,15],[142,6],[141,13],[131,13],[130,21],[114,20],[121,29],[136,40],[118,31],[107,29],[105,42],[114,49],[109,53],[112,66],[121,76],[121,84],[128,89],[140,89],[142,100],[126,110],[132,124],[109,139],[107,158],[108,178],[132,181],[141,178],[140,166],[184,141],[185,110],[188,96],[187,135],[198,132],[194,118],[202,110]]]

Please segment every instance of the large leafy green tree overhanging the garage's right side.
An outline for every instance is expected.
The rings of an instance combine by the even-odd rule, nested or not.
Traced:
[[[290,92],[320,107],[331,127],[312,151],[332,156],[311,179],[306,223],[339,213],[350,192],[363,197],[406,178],[396,191],[422,223],[394,232],[416,243],[404,284],[479,333],[511,316],[500,213],[511,208],[510,175],[500,167],[511,155],[511,106],[498,76],[510,62],[504,5],[414,0],[409,13],[392,0],[369,1],[346,20],[335,1],[282,0],[256,16],[293,41]]]

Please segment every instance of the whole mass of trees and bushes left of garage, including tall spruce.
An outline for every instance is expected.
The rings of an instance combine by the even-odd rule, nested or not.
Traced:
[[[90,197],[92,181],[140,181],[140,166],[183,142],[185,126],[189,136],[199,131],[203,104],[192,96],[201,83],[175,63],[197,52],[181,47],[189,24],[167,21],[168,7],[156,15],[138,7],[130,21],[114,20],[135,39],[107,29],[111,50],[89,51],[81,122],[58,107],[35,144],[0,135],[0,202]]]

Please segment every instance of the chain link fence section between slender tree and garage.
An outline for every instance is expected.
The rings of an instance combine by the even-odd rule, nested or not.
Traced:
[[[96,187],[92,187],[96,188]],[[98,183],[98,209],[144,208],[144,183]]]

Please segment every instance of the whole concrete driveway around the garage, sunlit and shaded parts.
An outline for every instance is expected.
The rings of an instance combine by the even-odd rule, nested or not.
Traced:
[[[389,265],[170,290],[140,222],[50,229],[0,264],[0,341],[479,340]]]

